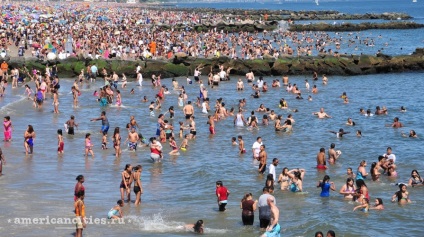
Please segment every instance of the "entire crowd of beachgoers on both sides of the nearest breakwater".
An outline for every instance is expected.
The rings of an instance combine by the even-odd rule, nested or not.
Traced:
[[[72,8],[76,7],[76,8]],[[3,7],[4,8],[4,7]],[[74,10],[71,10],[74,9]],[[7,9],[11,12],[26,11],[37,9],[35,5],[16,5],[7,6]],[[47,22],[36,22],[37,17],[33,14],[28,13],[28,18],[25,23],[23,19],[19,19],[16,15],[9,17],[9,24],[3,24],[2,34],[2,47],[7,50],[10,45],[15,46],[24,45],[32,47],[36,50],[36,54],[45,54],[50,51],[61,51],[64,50],[67,38],[64,37],[65,33],[70,33],[74,38],[73,52],[71,54],[79,55],[84,54],[88,57],[121,57],[123,59],[138,58],[138,57],[170,57],[173,53],[185,52],[192,56],[220,56],[225,55],[231,58],[263,58],[264,55],[272,55],[278,57],[279,55],[313,55],[318,52],[329,51],[326,48],[328,45],[335,44],[340,47],[340,38],[332,38],[328,34],[324,33],[296,33],[296,32],[284,32],[284,33],[247,33],[239,32],[238,34],[232,34],[228,32],[217,32],[211,30],[208,32],[198,33],[194,31],[177,31],[177,30],[164,30],[161,29],[160,24],[175,25],[178,23],[190,23],[199,24],[201,19],[205,16],[196,13],[186,12],[172,12],[172,11],[156,11],[156,10],[140,10],[140,9],[123,9],[120,14],[117,14],[116,10],[109,8],[99,8],[93,14],[89,14],[91,11],[89,5],[68,5],[63,9],[54,7],[45,7],[39,9],[41,13],[54,14],[56,20],[48,20]],[[107,13],[107,14],[105,14]],[[141,14],[140,14],[141,13]],[[38,14],[38,13],[37,13]],[[104,16],[107,16],[106,18]],[[137,17],[134,17],[137,16]],[[40,16],[39,16],[40,17]],[[208,21],[216,21],[222,16],[216,15]],[[10,19],[13,19],[11,21]],[[31,20],[32,19],[32,20]],[[65,21],[66,24],[61,22]],[[21,24],[19,22],[24,22]],[[90,27],[89,24],[92,24]],[[37,27],[43,25],[43,27]],[[112,26],[112,27],[109,27]],[[154,31],[152,30],[152,26]],[[118,33],[115,33],[119,31]],[[111,37],[114,35],[114,37]],[[91,37],[90,37],[91,36]],[[354,36],[352,36],[354,37]],[[356,40],[359,42],[360,38],[356,36]],[[287,43],[290,41],[292,46]],[[370,40],[371,41],[371,40]],[[336,44],[339,42],[338,44]],[[368,42],[368,39],[367,39]],[[362,42],[363,43],[363,42]],[[52,44],[53,49],[46,48],[40,49],[35,45]],[[350,42],[354,44],[354,42]],[[367,43],[368,44],[368,43]],[[296,52],[294,52],[296,51]],[[148,52],[148,53],[147,53]],[[313,53],[314,52],[314,53]],[[6,63],[7,64],[7,63]],[[12,88],[25,86],[25,94],[28,99],[34,101],[34,107],[36,109],[42,108],[43,102],[46,96],[50,95],[53,98],[54,113],[60,113],[59,109],[59,77],[56,65],[52,67],[47,66],[44,72],[37,70],[29,70],[26,67],[23,68],[12,68],[9,69],[7,65],[1,65],[1,93],[2,96],[5,94],[7,82],[9,79],[12,80]],[[137,75],[136,82],[140,87],[146,85],[147,82],[143,81],[142,68],[137,67],[134,69]],[[185,86],[179,85],[176,80],[172,81],[172,87],[168,88],[161,83],[161,76],[154,75],[151,79],[151,86],[158,91],[155,96],[155,100],[151,101],[148,106],[149,115],[157,117],[157,126],[155,136],[149,139],[145,138],[138,125],[136,118],[131,116],[128,123],[116,126],[112,136],[112,147],[115,151],[115,156],[119,158],[122,154],[122,146],[125,144],[128,146],[130,151],[137,151],[140,146],[146,146],[150,149],[150,158],[153,162],[160,162],[164,159],[164,148],[162,144],[169,143],[171,151],[169,156],[179,155],[179,151],[186,151],[190,147],[190,141],[196,139],[197,128],[195,108],[201,108],[201,113],[208,115],[208,130],[211,135],[216,134],[215,124],[224,123],[231,121],[234,126],[247,127],[249,130],[259,129],[260,126],[267,126],[270,123],[274,123],[275,132],[293,132],[293,127],[296,126],[293,114],[296,110],[292,110],[293,114],[289,114],[287,118],[283,118],[278,115],[278,112],[265,107],[265,105],[259,105],[255,111],[250,112],[249,117],[244,116],[246,112],[245,105],[246,99],[241,99],[238,103],[238,108],[226,108],[225,98],[218,98],[214,105],[210,104],[210,93],[208,93],[207,87],[219,86],[220,81],[229,80],[229,74],[231,68],[224,69],[221,65],[220,70],[217,72],[211,71],[207,78],[207,84],[203,84],[202,78],[200,77],[201,67],[196,68],[193,80],[187,78],[187,86],[194,85],[199,86],[199,97],[196,101],[192,101],[188,98]],[[26,77],[20,76],[26,75]],[[127,85],[127,79],[125,75],[122,75],[121,79],[119,75],[112,72],[108,75],[106,69],[98,69],[96,65],[89,65],[86,69],[81,72],[78,79],[75,80],[72,88],[69,88],[72,92],[73,106],[84,106],[78,101],[78,97],[81,94],[79,87],[84,83],[93,83],[97,76],[101,76],[104,79],[104,86],[99,92],[94,91],[93,95],[98,97],[100,106],[107,106],[108,104],[116,104],[121,106],[123,104],[121,92],[118,89],[118,82],[122,82],[122,88]],[[25,82],[34,82],[34,92],[28,84]],[[317,73],[312,75],[312,81],[318,81]],[[194,83],[193,83],[194,82]],[[245,83],[247,85],[245,85]],[[323,75],[322,84],[327,85],[328,78]],[[194,85],[193,85],[194,84]],[[254,72],[251,71],[246,74],[245,79],[238,79],[234,85],[234,89],[238,91],[248,90],[251,87],[252,96],[251,100],[264,96],[265,92],[269,90],[267,82],[262,78],[255,78]],[[299,85],[291,85],[288,76],[282,77],[282,85],[278,79],[273,80],[270,87],[280,89],[283,87],[288,96],[292,96],[296,99],[303,99],[301,96],[301,89]],[[309,82],[305,81],[305,90],[309,91]],[[162,104],[168,97],[169,89],[177,91],[178,102],[175,106],[168,108],[167,112],[160,113],[163,109]],[[196,89],[197,90],[197,89]],[[302,89],[303,90],[303,89]],[[130,93],[134,93],[131,90]],[[315,84],[311,90],[311,93],[318,93],[317,85]],[[266,95],[265,95],[266,96]],[[349,103],[346,93],[343,93],[341,100],[344,104]],[[308,100],[312,100],[309,96]],[[142,102],[149,102],[144,97]],[[147,106],[145,106],[147,107]],[[183,114],[185,121],[179,122],[179,128],[174,126],[172,120],[174,119],[174,111],[180,109]],[[287,100],[284,98],[279,101],[279,109],[288,109],[289,105]],[[165,108],[166,109],[166,108]],[[155,115],[160,113],[159,115]],[[402,107],[400,112],[406,112],[406,109]],[[261,116],[258,116],[260,114]],[[360,110],[360,114],[363,116],[387,116],[387,109],[383,106],[376,107],[374,114],[371,110]],[[324,108],[320,111],[314,112],[314,116],[318,119],[332,118],[325,112]],[[228,119],[229,118],[229,119]],[[15,118],[18,119],[18,118]],[[103,111],[99,117],[92,118],[90,121],[101,121],[100,133],[102,139],[99,143],[102,144],[102,149],[108,149],[108,132],[109,132],[109,120],[106,112]],[[65,132],[69,135],[74,135],[74,129],[78,127],[76,118],[71,116],[66,121]],[[9,116],[4,117],[4,140],[10,142],[12,140],[12,119]],[[355,122],[351,118],[347,120],[347,126],[355,126]],[[393,119],[392,124],[387,126],[393,128],[403,127],[403,124],[398,117]],[[120,135],[120,128],[125,127],[128,131],[128,137],[122,142]],[[178,133],[174,130],[178,129]],[[338,131],[329,131],[334,133],[338,138],[349,132],[339,129]],[[358,130],[356,136],[361,136],[362,132]],[[416,138],[417,134],[414,130],[411,130],[409,134],[403,134],[406,137]],[[34,141],[36,139],[36,133],[32,125],[28,125],[27,130],[24,133],[24,149],[26,154],[32,154],[34,152]],[[177,139],[180,140],[180,145],[177,144]],[[64,153],[64,137],[62,129],[57,130],[57,151],[61,155]],[[231,141],[232,145],[238,146],[238,152],[240,154],[247,153],[245,143],[242,136],[233,137]],[[91,141],[91,134],[85,135],[84,153],[85,156],[94,157],[94,146]],[[252,145],[252,162],[257,165],[258,173],[260,175],[267,174],[267,179],[264,187],[262,188],[263,194],[258,200],[253,200],[251,193],[246,193],[241,202],[240,208],[242,209],[242,222],[244,225],[254,224],[254,213],[259,210],[259,222],[260,228],[264,232],[263,236],[279,236],[281,227],[279,224],[279,208],[276,205],[276,198],[273,196],[277,184],[280,185],[280,190],[291,191],[291,192],[303,192],[303,180],[306,174],[306,170],[302,168],[289,169],[284,167],[281,173],[277,172],[277,166],[279,163],[278,158],[273,158],[269,164],[270,157],[266,150],[266,145],[263,144],[262,138],[257,137],[256,142]],[[330,145],[330,149],[327,152],[325,148],[320,148],[316,157],[317,166],[319,170],[326,170],[329,167],[327,163],[334,164],[337,162],[342,152],[336,150],[335,144]],[[6,160],[0,150],[0,175],[2,172],[2,166],[6,164]],[[396,156],[392,153],[392,148],[388,147],[386,153],[379,156],[378,160],[372,162],[371,169],[367,172],[366,169],[367,161],[363,160],[360,162],[356,173],[352,168],[347,169],[346,183],[343,184],[339,193],[344,196],[345,199],[353,200],[357,203],[357,206],[353,210],[361,210],[368,212],[370,209],[383,210],[383,199],[375,198],[375,203],[370,204],[370,190],[365,183],[371,181],[378,181],[382,175],[389,177],[397,176]],[[141,173],[143,167],[141,165],[132,166],[127,164],[121,173],[122,180],[120,183],[120,199],[117,204],[107,213],[109,219],[123,218],[124,214],[122,207],[125,203],[131,203],[131,192],[135,194],[135,205],[140,205],[142,202],[141,195],[143,194],[143,186],[141,182]],[[371,177],[371,178],[369,178]],[[77,219],[77,235],[82,236],[82,231],[86,227],[84,217],[85,214],[85,188],[84,188],[84,176],[79,175],[77,177],[77,184],[75,186],[75,197],[74,207],[75,215]],[[417,170],[411,172],[411,177],[408,183],[399,183],[399,191],[397,191],[392,197],[391,201],[398,202],[400,204],[406,204],[411,202],[407,187],[422,186],[424,184],[423,179],[420,177]],[[131,190],[133,187],[133,190]],[[330,181],[330,177],[325,175],[322,180],[318,181],[317,188],[321,188],[320,196],[323,198],[329,197],[331,191],[336,191],[336,184]],[[372,190],[371,190],[372,191]],[[223,185],[222,181],[216,182],[216,196],[218,203],[218,210],[223,212],[226,210],[228,203],[228,197],[230,191]],[[188,230],[196,233],[204,232],[203,220],[198,220],[193,225],[185,226]],[[317,232],[315,236],[323,236],[322,232]],[[329,230],[328,236],[335,236],[334,231]]]

